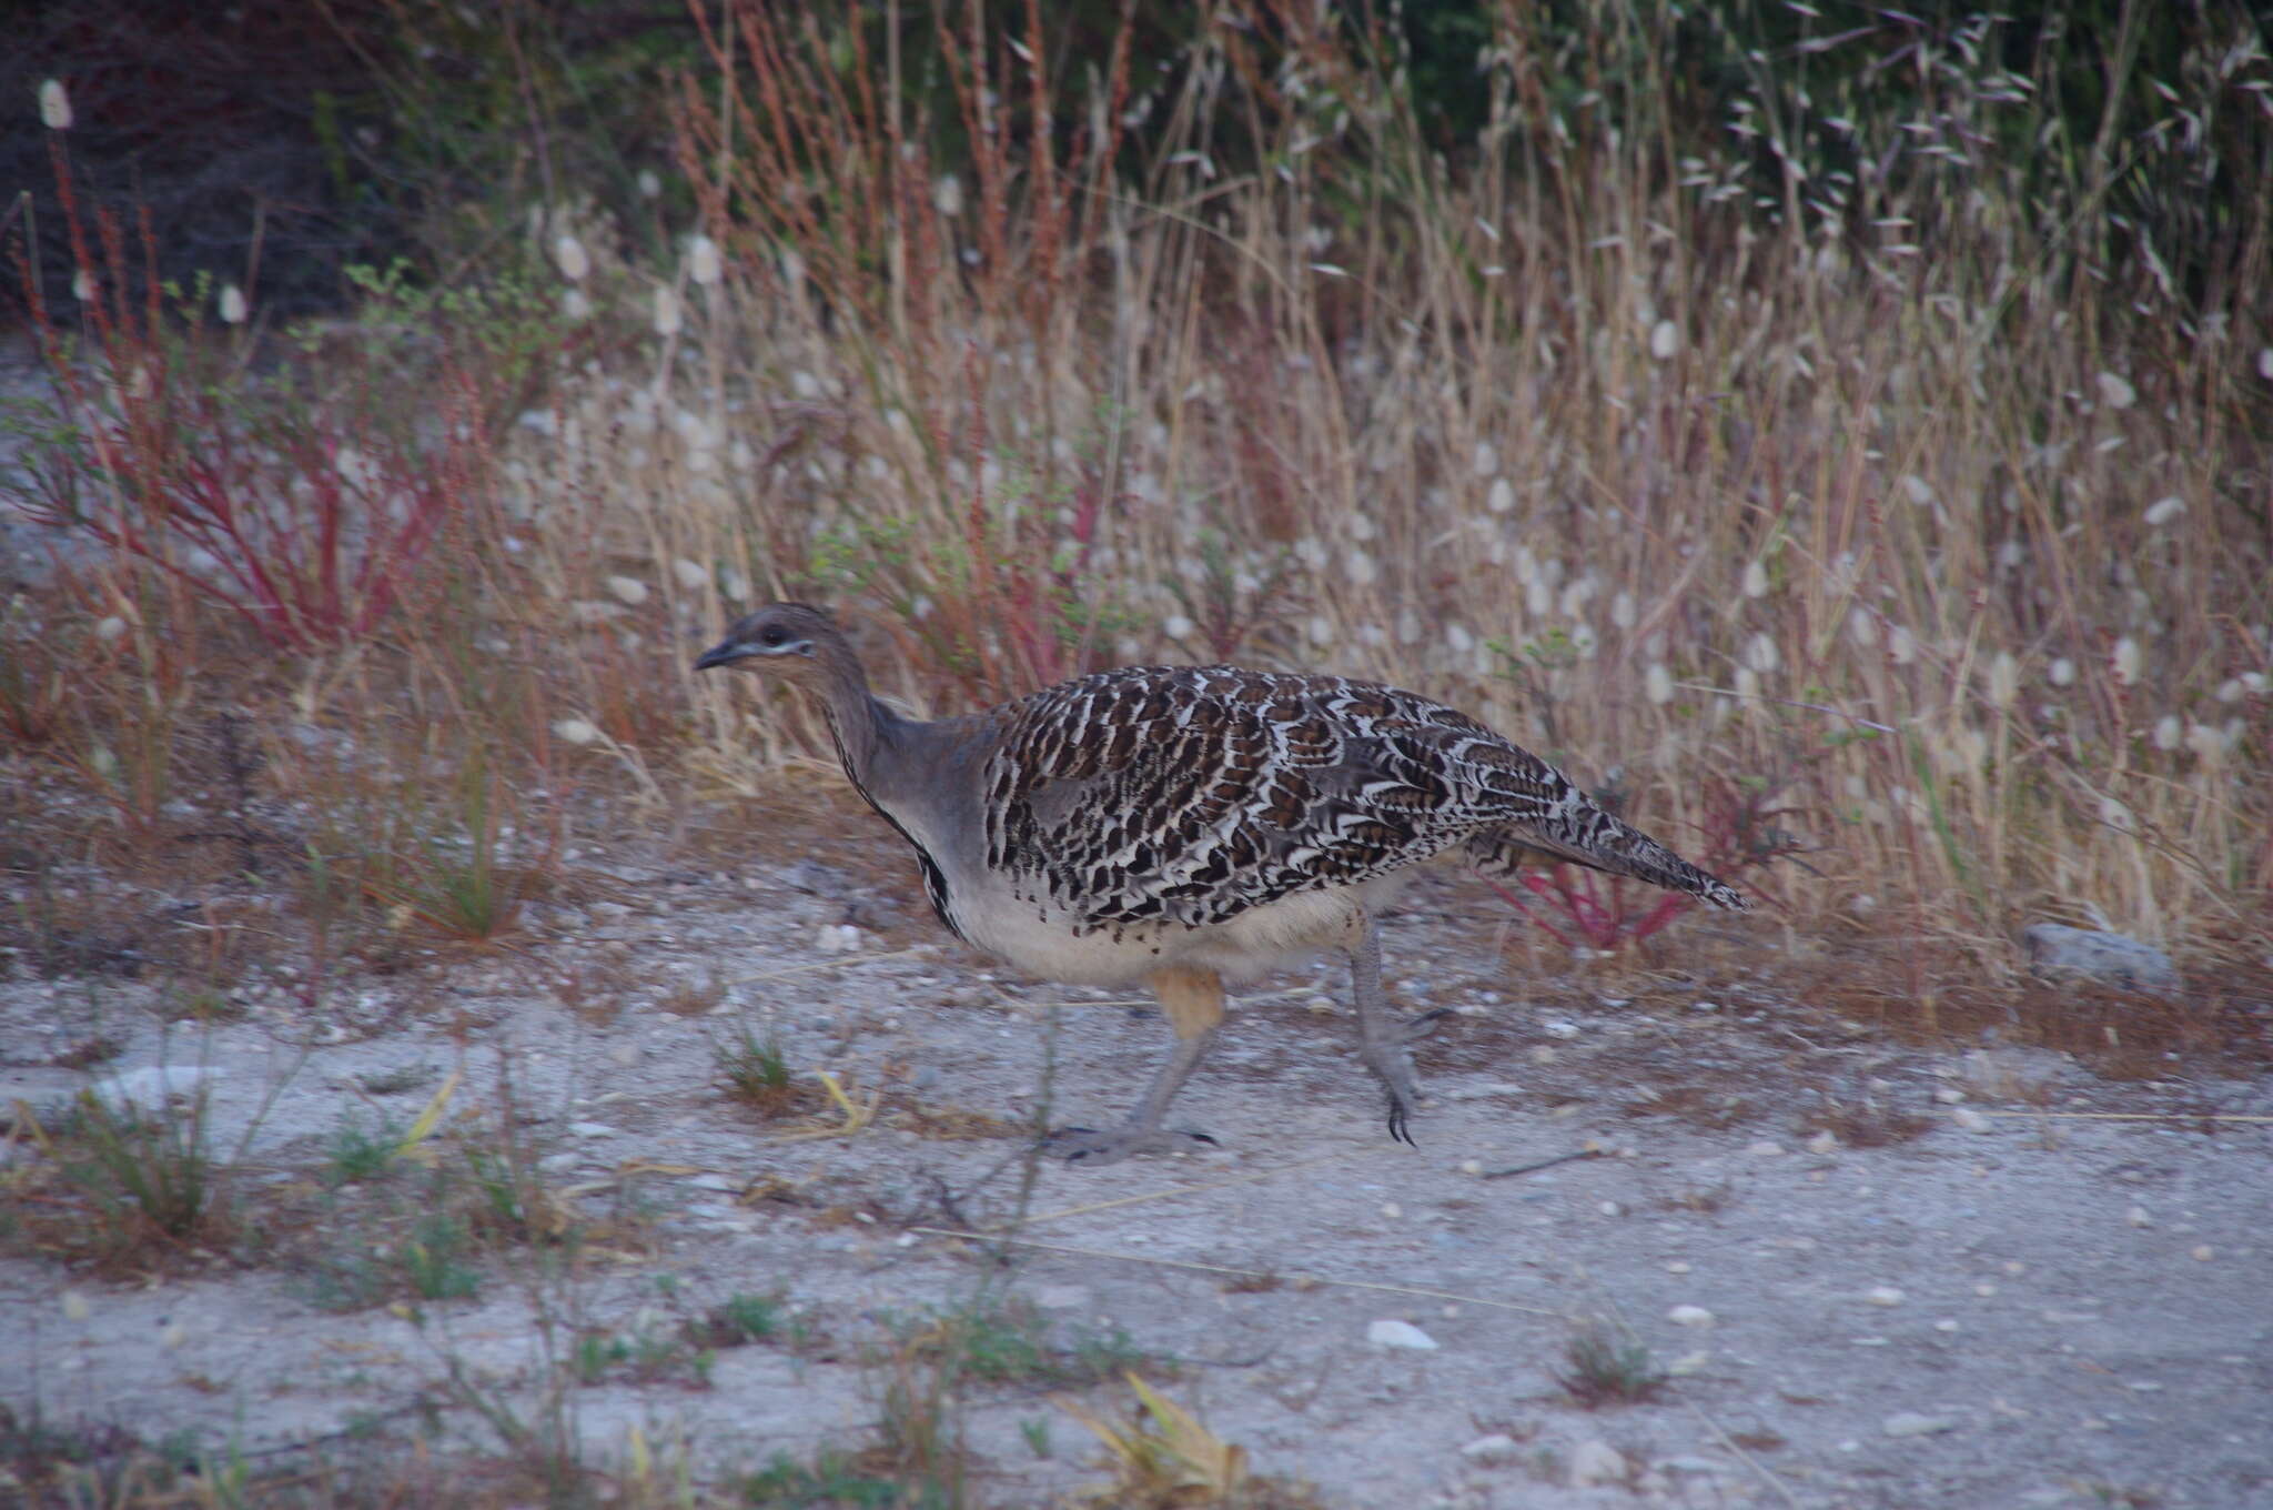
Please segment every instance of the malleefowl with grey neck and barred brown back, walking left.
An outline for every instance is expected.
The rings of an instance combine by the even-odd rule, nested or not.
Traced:
[[[1214,1142],[1162,1117],[1221,1032],[1225,982],[1321,948],[1350,957],[1359,1057],[1409,1144],[1407,1048],[1439,1014],[1391,1021],[1375,916],[1446,851],[1491,873],[1571,860],[1748,907],[1548,762],[1396,687],[1123,666],[925,723],[877,703],[836,621],[802,603],[739,621],[696,662],[711,666],[821,700],[846,775],[914,846],[957,937],[1043,980],[1141,980],[1159,996],[1168,1062],[1121,1128],[1052,1135],[1068,1160]]]

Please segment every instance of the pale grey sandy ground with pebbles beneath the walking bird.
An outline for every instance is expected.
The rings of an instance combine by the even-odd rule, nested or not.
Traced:
[[[491,1264],[423,1324],[320,1308],[305,1262],[141,1285],[0,1262],[0,1401],[259,1451],[407,1428],[386,1412],[452,1360],[505,1394],[539,1380],[539,1301],[636,1328],[780,1287],[846,1346],[727,1349],[709,1389],[571,1394],[598,1458],[639,1424],[725,1471],[857,1446],[877,1376],[850,1339],[991,1285],[1173,1360],[1168,1394],[1334,1505],[2273,1503],[2273,1126],[2228,1121],[2273,1117],[2273,1085],[1903,1048],[1759,985],[1807,941],[1743,919],[1682,921],[1680,964],[1655,973],[1532,971],[1500,948],[1502,907],[1427,878],[1387,926],[1402,1001],[1457,1010],[1418,1053],[1418,1151],[1389,1142],[1346,982],[1321,964],[1266,982],[1177,1103],[1218,1148],[1039,1167],[1027,1246],[1000,1269],[939,1233],[1014,1214],[1023,1144],[946,1132],[1043,1096],[1059,1123],[1118,1119],[1166,1032],[961,953],[889,835],[848,816],[821,853],[580,855],[616,901],[532,907],[525,944],[552,969],[607,966],[582,1014],[532,992],[518,955],[355,980],[314,1023],[257,989],[241,1021],[195,1028],[159,1021],[139,982],[0,982],[0,1101],[59,1101],[86,1076],[52,1057],[111,1032],[125,1053],[98,1073],[205,1067],[223,1146],[257,1117],[243,1178],[305,1183],[350,1114],[407,1123],[452,1069],[452,1112],[493,1107],[509,1071],[548,1178],[584,1187],[586,1212],[625,1192],[646,1210],[634,1251],[543,1287]],[[711,1044],[739,1026],[855,1094],[898,1076],[927,1119],[782,1142],[718,1085]],[[359,1089],[414,1069],[416,1087]],[[1818,1130],[1841,1110],[1850,1137],[1925,1130],[1850,1146]],[[2112,1110],[2157,1117],[2078,1117]],[[1659,1401],[1589,1412],[1555,1385],[1584,1317],[1673,1369]],[[1377,1321],[1434,1346],[1384,1346]],[[468,1414],[443,1421],[484,1442]],[[968,1430],[982,1503],[1102,1478],[1041,1387],[975,1387]]]

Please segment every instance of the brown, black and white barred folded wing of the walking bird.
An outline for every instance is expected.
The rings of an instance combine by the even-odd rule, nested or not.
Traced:
[[[1002,716],[986,864],[1086,930],[1221,923],[1502,825],[1573,830],[1573,805],[1600,814],[1466,714],[1371,682],[1132,666]]]

